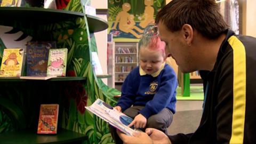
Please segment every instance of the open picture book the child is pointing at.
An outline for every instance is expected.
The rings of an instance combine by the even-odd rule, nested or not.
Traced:
[[[100,99],[97,99],[91,106],[85,108],[127,135],[132,136],[133,132],[141,131],[127,126],[133,121],[131,117],[117,111]]]

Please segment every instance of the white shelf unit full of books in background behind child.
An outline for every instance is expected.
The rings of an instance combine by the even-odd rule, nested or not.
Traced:
[[[123,83],[130,71],[139,65],[138,43],[115,43],[115,83]]]

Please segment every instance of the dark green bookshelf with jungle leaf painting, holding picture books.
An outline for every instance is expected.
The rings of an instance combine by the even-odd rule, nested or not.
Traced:
[[[65,10],[0,7],[0,25],[13,27],[12,33],[21,31],[21,39],[57,41],[57,48],[68,49],[66,77],[0,78],[0,143],[113,143],[108,124],[84,108],[98,98],[115,105],[114,95],[120,93],[103,84],[92,69],[91,53],[98,51],[94,33],[107,29],[108,24],[86,15],[82,6],[77,1]],[[0,45],[0,52],[5,48]],[[44,103],[60,106],[55,135],[36,134],[39,106]]]

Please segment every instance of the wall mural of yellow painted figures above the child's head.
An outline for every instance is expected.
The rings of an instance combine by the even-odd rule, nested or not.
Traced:
[[[165,0],[109,0],[108,33],[115,42],[138,42],[164,5]]]

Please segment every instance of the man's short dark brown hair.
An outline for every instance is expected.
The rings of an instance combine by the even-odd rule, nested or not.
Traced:
[[[229,26],[214,0],[173,0],[156,15],[156,23],[163,22],[170,31],[178,31],[188,24],[204,37],[215,39]]]

